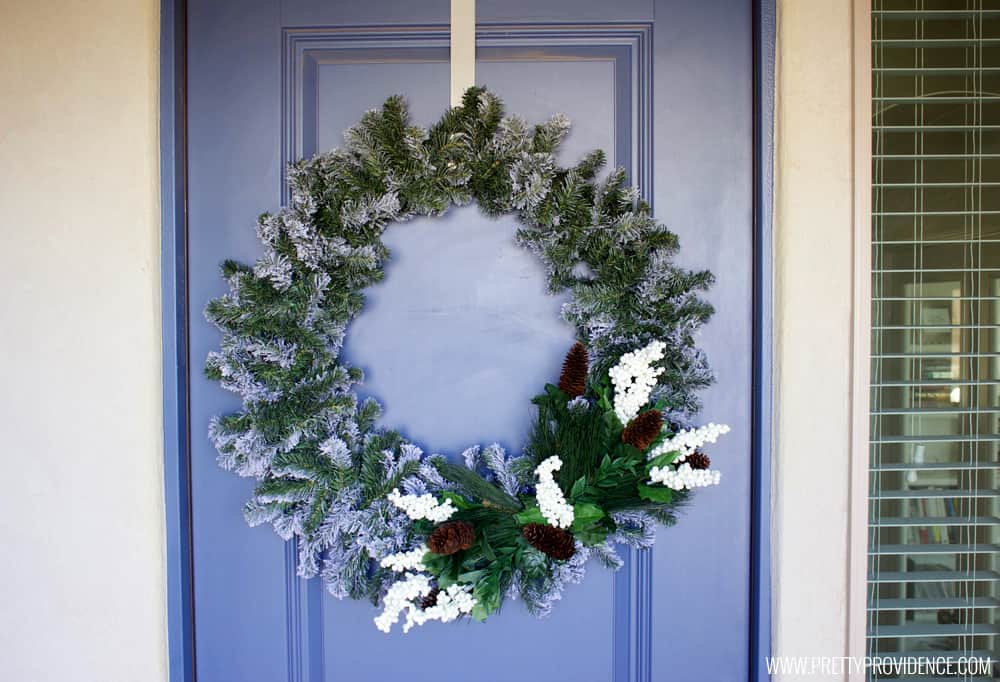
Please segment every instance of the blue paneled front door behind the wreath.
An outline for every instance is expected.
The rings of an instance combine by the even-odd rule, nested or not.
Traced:
[[[716,273],[701,346],[717,383],[706,419],[723,485],[701,492],[652,552],[595,566],[552,615],[508,603],[486,624],[384,635],[368,603],[295,575],[295,549],[248,528],[252,482],[216,466],[209,418],[237,408],[199,371],[217,347],[205,304],[218,265],[259,254],[256,216],[284,199],[286,163],[341,142],[387,96],[417,123],[448,105],[447,0],[191,0],[188,8],[191,496],[197,679],[626,682],[746,679],[750,637],[752,24],[738,0],[479,0],[477,79],[511,113],[574,123],[564,164],[595,147]],[[558,374],[571,330],[513,219],[475,207],[391,227],[386,281],[346,353],[384,421],[428,451],[516,451],[531,395]],[[414,387],[420,387],[420,391]]]

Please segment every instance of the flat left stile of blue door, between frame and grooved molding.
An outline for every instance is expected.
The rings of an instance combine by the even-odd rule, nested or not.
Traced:
[[[218,343],[202,310],[225,290],[221,253],[252,261],[251,228],[279,200],[280,16],[271,0],[188,3],[191,496],[202,682],[293,679],[284,546],[269,530],[247,529],[241,510],[252,483],[215,464],[208,420],[237,401],[201,372]]]

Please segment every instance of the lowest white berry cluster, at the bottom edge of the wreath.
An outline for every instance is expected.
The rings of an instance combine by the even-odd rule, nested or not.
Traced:
[[[448,623],[459,616],[472,612],[476,600],[472,596],[472,585],[454,584],[441,590],[434,606],[423,609],[418,603],[431,593],[431,577],[426,573],[408,573],[389,587],[383,603],[385,608],[375,617],[375,627],[388,633],[399,616],[406,612],[403,632],[409,632],[414,625],[423,625],[429,620]]]

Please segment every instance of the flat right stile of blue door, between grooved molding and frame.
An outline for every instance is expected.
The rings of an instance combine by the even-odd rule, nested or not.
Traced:
[[[646,679],[747,679],[753,397],[752,5],[657,0],[653,34],[655,211],[682,262],[707,267],[716,314],[699,342],[717,383],[706,418],[732,425],[713,446],[722,485],[699,491],[653,549]]]

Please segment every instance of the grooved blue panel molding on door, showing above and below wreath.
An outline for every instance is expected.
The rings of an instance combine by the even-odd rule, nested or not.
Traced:
[[[649,23],[481,23],[477,61],[604,61],[614,69],[614,149],[610,165],[652,205],[652,51]],[[309,27],[282,31],[281,187],[289,199],[285,168],[320,151],[317,143],[319,69],[355,63],[446,64],[445,24]],[[489,83],[485,84],[487,87]],[[652,676],[651,552],[622,548],[625,565],[614,575],[612,670],[614,682],[646,682]],[[303,588],[296,572],[294,541],[286,545],[285,595],[288,675],[291,682],[323,679],[322,590]],[[315,581],[314,581],[315,582]],[[318,584],[318,583],[317,583]]]

